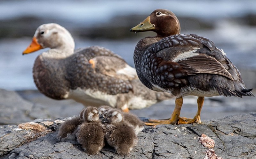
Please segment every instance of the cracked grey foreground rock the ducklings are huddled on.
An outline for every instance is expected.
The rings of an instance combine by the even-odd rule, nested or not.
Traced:
[[[128,156],[104,147],[98,155],[87,155],[76,141],[59,142],[57,131],[66,120],[36,119],[0,129],[0,158],[232,158],[256,157],[256,112],[203,121],[203,124],[145,126],[139,142]],[[146,120],[144,118],[144,120]],[[40,125],[40,126],[39,126]],[[214,148],[199,138],[207,135]]]

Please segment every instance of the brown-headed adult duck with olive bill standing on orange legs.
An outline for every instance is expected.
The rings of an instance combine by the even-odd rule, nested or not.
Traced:
[[[149,89],[175,96],[170,119],[149,119],[146,125],[201,123],[204,97],[254,96],[236,66],[215,44],[196,34],[180,34],[180,23],[172,11],[156,9],[131,32],[153,31],[137,43],[133,60],[140,81]],[[183,97],[197,96],[193,119],[180,117]]]

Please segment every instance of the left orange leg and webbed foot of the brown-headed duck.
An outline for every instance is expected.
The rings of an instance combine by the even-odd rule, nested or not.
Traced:
[[[160,125],[160,124],[172,124],[176,125],[179,123],[180,119],[180,110],[183,104],[183,98],[176,98],[175,99],[175,108],[172,113],[172,116],[169,120],[157,120],[157,119],[149,119],[149,122],[146,122],[145,125],[153,126],[153,125]]]

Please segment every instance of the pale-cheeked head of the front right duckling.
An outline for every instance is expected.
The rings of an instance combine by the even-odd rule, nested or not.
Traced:
[[[124,121],[124,116],[122,112],[118,110],[110,110],[107,114],[107,118],[105,118],[102,122],[103,123],[119,123]]]

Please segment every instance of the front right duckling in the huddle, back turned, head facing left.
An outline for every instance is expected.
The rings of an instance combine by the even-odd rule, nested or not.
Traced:
[[[108,145],[114,147],[120,155],[129,155],[132,148],[137,145],[138,137],[133,128],[124,121],[123,113],[112,109],[103,123],[108,123],[104,134]]]

